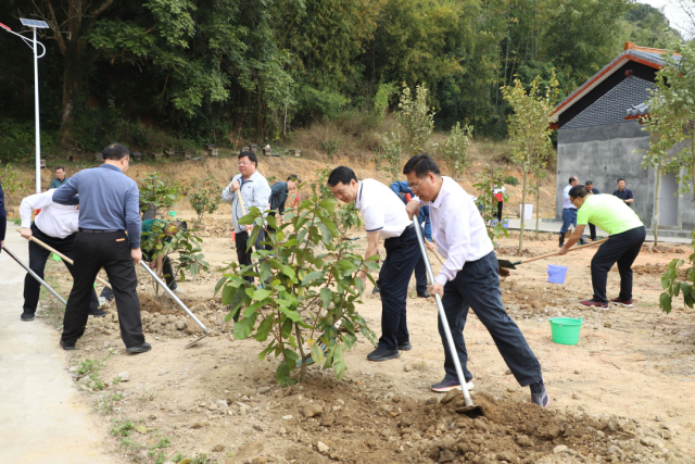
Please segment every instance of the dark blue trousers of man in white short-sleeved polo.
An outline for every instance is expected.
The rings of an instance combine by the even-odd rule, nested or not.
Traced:
[[[381,338],[379,347],[395,350],[399,344],[410,341],[405,302],[408,283],[418,260],[422,258],[415,227],[406,228],[401,237],[383,241],[387,259],[379,272],[381,291]]]

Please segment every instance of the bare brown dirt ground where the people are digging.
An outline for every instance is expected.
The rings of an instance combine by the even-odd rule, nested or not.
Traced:
[[[236,253],[226,211],[206,223],[211,272],[179,285],[184,301],[214,335],[185,349],[197,337],[194,324],[167,298],[155,300],[149,277],[138,272],[153,350],[125,353],[114,304],[106,317],[90,318],[65,366],[96,417],[109,424],[104,449],[124,463],[695,462],[695,311],[682,301],[669,315],[658,308],[662,266],[684,258],[684,246],[656,252],[644,247],[632,309],[578,304],[591,298],[590,250],[511,271],[501,284],[503,300],[543,366],[551,404],[529,404],[528,388],[515,381],[471,312],[465,336],[473,399],[484,416],[470,418],[454,412],[458,398],[428,388],[443,377],[444,353],[434,301],[416,298],[414,279],[407,306],[413,350],[370,363],[372,347],[361,339],[346,354],[341,381],[331,369],[312,366],[303,385],[279,388],[277,360],[260,362],[257,341],[236,341],[229,327],[224,330],[226,313],[213,298],[216,269]],[[511,235],[498,244],[498,258],[516,254],[518,233]],[[364,239],[356,243],[366,246]],[[527,235],[523,255],[556,247],[554,236]],[[438,261],[430,260],[437,272]],[[564,285],[547,283],[548,264],[568,266]],[[62,264],[51,261],[47,273],[66,296],[70,276]],[[618,273],[611,272],[609,298],[618,288]],[[51,308],[42,300],[41,314],[60,325]],[[380,308],[368,288],[359,312],[377,334]],[[578,346],[552,341],[547,319],[554,316],[583,319]],[[85,375],[89,369],[78,371],[85,360],[101,362],[91,377]],[[114,380],[119,375],[127,381]]]

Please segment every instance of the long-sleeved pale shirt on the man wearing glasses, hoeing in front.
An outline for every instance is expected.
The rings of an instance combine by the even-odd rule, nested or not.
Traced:
[[[442,176],[442,188],[430,206],[430,225],[437,250],[446,259],[434,280],[445,285],[464,268],[467,261],[477,261],[490,254],[494,247],[485,223],[466,190],[451,177]]]

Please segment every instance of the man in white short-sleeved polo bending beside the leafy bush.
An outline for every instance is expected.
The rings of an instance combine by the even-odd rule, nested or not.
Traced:
[[[415,265],[421,258],[413,221],[408,220],[403,202],[389,187],[375,179],[357,180],[345,166],[334,168],[328,176],[328,186],[342,202],[355,202],[362,212],[367,230],[365,258],[378,254],[379,237],[383,238],[387,258],[379,272],[381,291],[381,338],[369,361],[399,358],[399,350],[412,349],[405,313],[408,283]],[[367,274],[358,277],[366,283]]]

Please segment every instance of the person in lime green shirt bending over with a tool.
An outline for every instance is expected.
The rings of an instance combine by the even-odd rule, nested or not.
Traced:
[[[620,294],[610,302],[632,308],[632,263],[640,254],[646,237],[644,224],[630,206],[611,195],[591,195],[586,187],[574,186],[569,191],[569,199],[578,210],[577,227],[569,241],[560,249],[560,254],[567,253],[577,243],[589,223],[601,227],[610,236],[591,260],[594,298],[582,301],[581,304],[608,308],[606,280],[610,267],[618,263]]]

